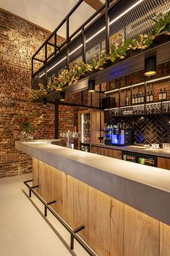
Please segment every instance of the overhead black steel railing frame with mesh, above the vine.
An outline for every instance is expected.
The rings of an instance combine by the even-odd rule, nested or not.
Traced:
[[[97,12],[72,35],[69,35],[70,17],[82,2],[83,0],[77,2],[38,51],[33,54],[33,88],[38,88],[39,82],[46,85],[53,75],[58,76],[62,69],[69,69],[69,65],[75,59],[90,62],[93,54],[100,55],[102,49],[108,53],[111,38],[116,33],[121,33],[124,39],[136,38],[140,33],[148,33],[155,24],[154,17],[159,12],[166,12],[169,9],[168,0],[117,0],[113,3],[106,0]],[[66,25],[67,38],[57,46],[57,33],[63,25]],[[51,43],[51,38],[54,43]],[[48,54],[48,46],[53,48],[50,54]],[[43,56],[39,57],[38,54],[41,51]],[[35,61],[43,63],[43,66],[36,71],[34,71]]]

